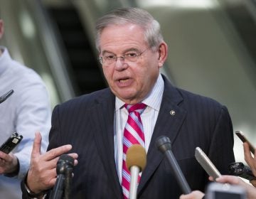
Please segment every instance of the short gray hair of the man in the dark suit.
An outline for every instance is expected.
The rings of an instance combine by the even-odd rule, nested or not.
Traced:
[[[144,39],[149,48],[157,50],[163,41],[160,24],[147,11],[138,8],[121,8],[110,11],[97,20],[95,44],[100,52],[100,35],[104,28],[110,25],[134,23],[144,29]]]

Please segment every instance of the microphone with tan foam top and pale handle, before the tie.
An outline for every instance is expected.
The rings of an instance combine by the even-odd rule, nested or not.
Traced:
[[[126,166],[131,172],[129,199],[136,199],[139,172],[142,172],[146,166],[146,151],[143,146],[134,144],[129,147],[126,156]]]

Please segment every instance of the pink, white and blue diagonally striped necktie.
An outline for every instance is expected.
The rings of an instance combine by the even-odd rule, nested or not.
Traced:
[[[144,132],[142,127],[142,119],[140,114],[146,108],[146,104],[124,104],[124,107],[129,112],[127,124],[124,127],[124,138],[123,138],[123,163],[122,163],[122,190],[124,199],[129,198],[129,183],[131,181],[131,173],[126,166],[126,153],[129,147],[133,144],[141,144],[145,147]],[[138,178],[138,183],[140,176]]]

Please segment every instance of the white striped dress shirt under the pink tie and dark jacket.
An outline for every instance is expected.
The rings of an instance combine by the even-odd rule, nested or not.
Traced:
[[[145,149],[146,152],[149,149],[151,136],[154,131],[156,119],[159,114],[161,106],[161,99],[164,92],[164,80],[159,74],[156,84],[149,93],[149,95],[142,101],[146,104],[146,109],[141,114],[142,125],[144,130],[145,138]],[[122,184],[122,157],[123,157],[123,144],[122,139],[124,135],[124,127],[127,123],[128,112],[124,107],[124,102],[116,97],[115,100],[115,111],[114,111],[114,158],[117,166],[117,173],[119,181]]]

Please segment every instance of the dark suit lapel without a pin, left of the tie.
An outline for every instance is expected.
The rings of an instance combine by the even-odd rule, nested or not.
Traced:
[[[120,198],[122,189],[114,161],[114,95],[108,91],[107,95],[99,97],[97,105],[90,110],[90,115],[97,150],[110,178],[112,190]]]

